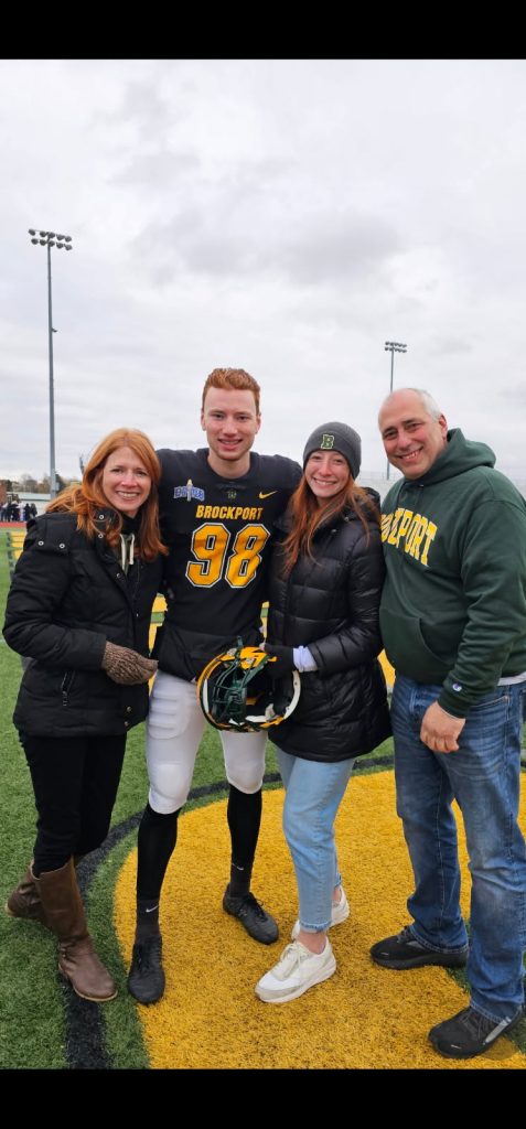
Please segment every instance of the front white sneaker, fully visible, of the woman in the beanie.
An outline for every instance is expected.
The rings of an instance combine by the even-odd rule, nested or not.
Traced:
[[[265,1004],[287,1004],[336,971],[336,961],[327,938],[323,953],[310,953],[299,940],[283,949],[278,964],[256,983],[256,996]]]

